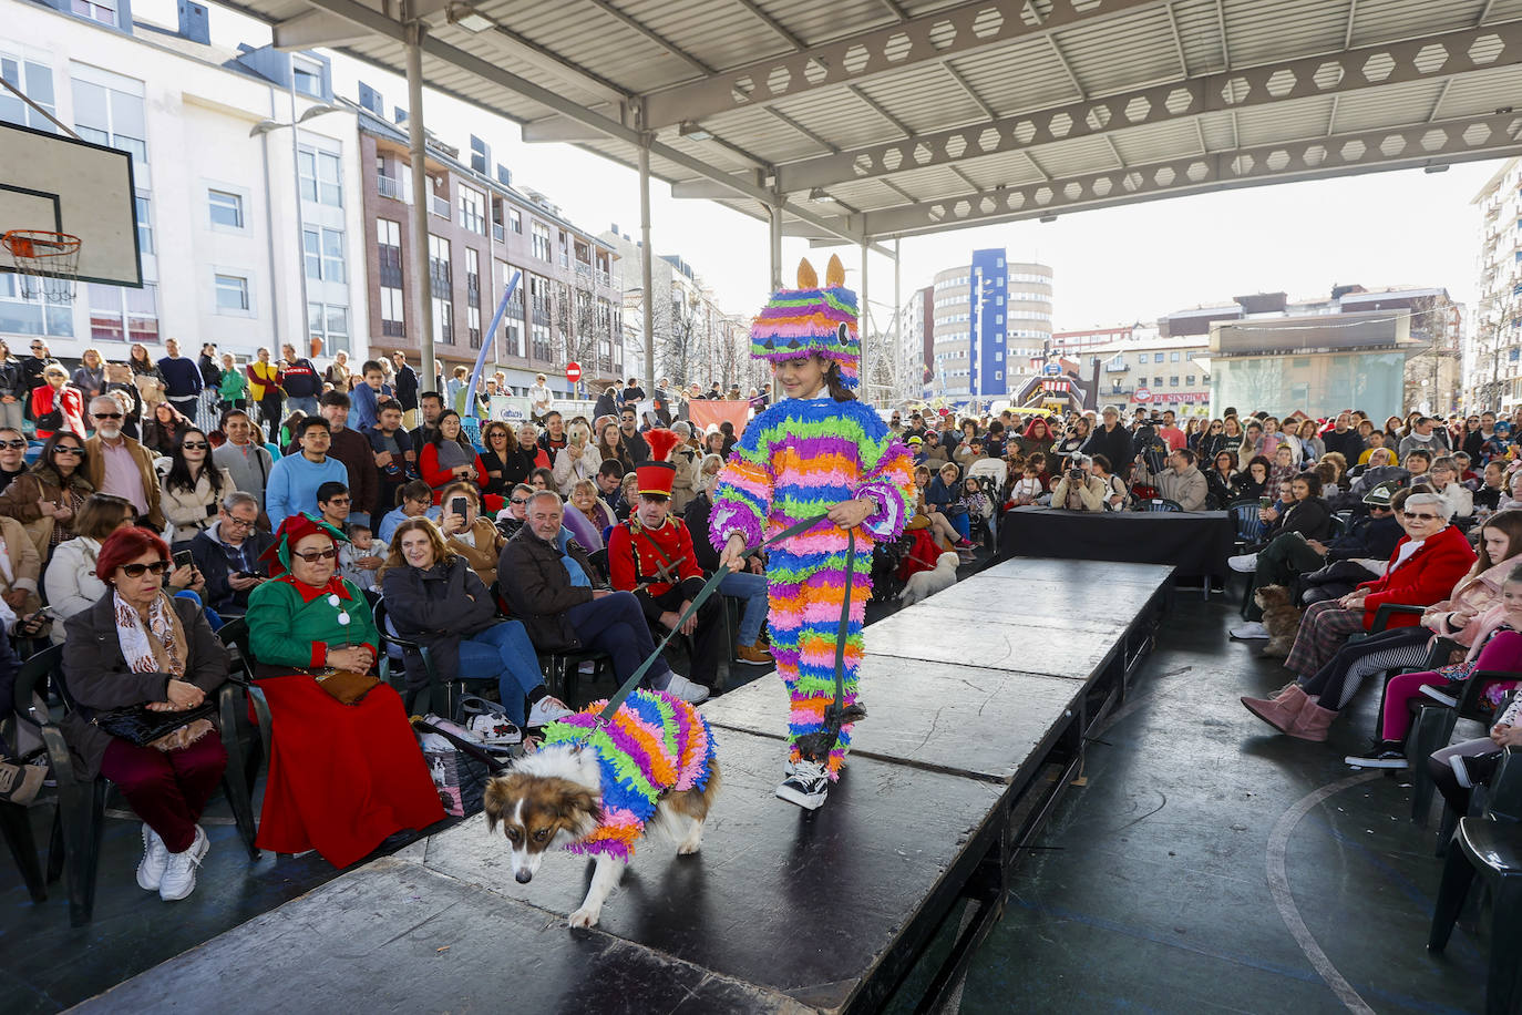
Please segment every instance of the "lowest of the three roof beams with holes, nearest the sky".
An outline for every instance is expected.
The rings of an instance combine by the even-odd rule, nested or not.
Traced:
[[[864,228],[887,239],[1227,187],[1498,158],[1522,152],[1519,131],[1522,114],[1502,113],[1184,155],[868,212]]]

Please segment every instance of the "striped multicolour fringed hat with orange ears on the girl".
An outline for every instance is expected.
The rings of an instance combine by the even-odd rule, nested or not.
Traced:
[[[857,298],[845,288],[846,269],[831,254],[825,288],[808,260],[798,265],[798,289],[779,289],[750,323],[750,355],[769,362],[819,353],[840,365],[840,382],[857,387],[861,338]]]

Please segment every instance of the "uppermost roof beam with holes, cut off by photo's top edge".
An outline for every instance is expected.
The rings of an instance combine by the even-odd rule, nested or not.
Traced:
[[[1052,0],[1038,20],[1026,0],[974,0],[904,18],[793,53],[759,59],[645,96],[650,129],[715,113],[767,105],[819,88],[860,84],[877,75],[950,59],[991,46],[1050,35],[1166,0]]]

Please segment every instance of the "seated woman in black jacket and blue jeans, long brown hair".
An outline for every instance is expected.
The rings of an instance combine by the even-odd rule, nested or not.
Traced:
[[[449,516],[446,516],[449,517]],[[464,557],[452,552],[428,519],[402,522],[391,537],[380,578],[387,618],[402,638],[428,645],[443,680],[495,680],[507,718],[545,726],[571,715],[545,689],[539,654],[521,621],[496,615],[496,603]],[[408,685],[420,686],[420,659],[406,662]]]

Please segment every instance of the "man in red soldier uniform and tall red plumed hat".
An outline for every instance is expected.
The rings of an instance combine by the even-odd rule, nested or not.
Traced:
[[[607,569],[613,589],[633,592],[645,619],[674,630],[693,598],[703,587],[703,569],[693,551],[693,536],[680,519],[671,517],[671,484],[676,466],[665,461],[680,440],[671,431],[645,434],[654,461],[641,463],[639,499],[629,520],[613,527],[607,537]],[[689,679],[712,688],[718,662],[728,651],[723,597],[712,597],[680,630],[693,639]]]

